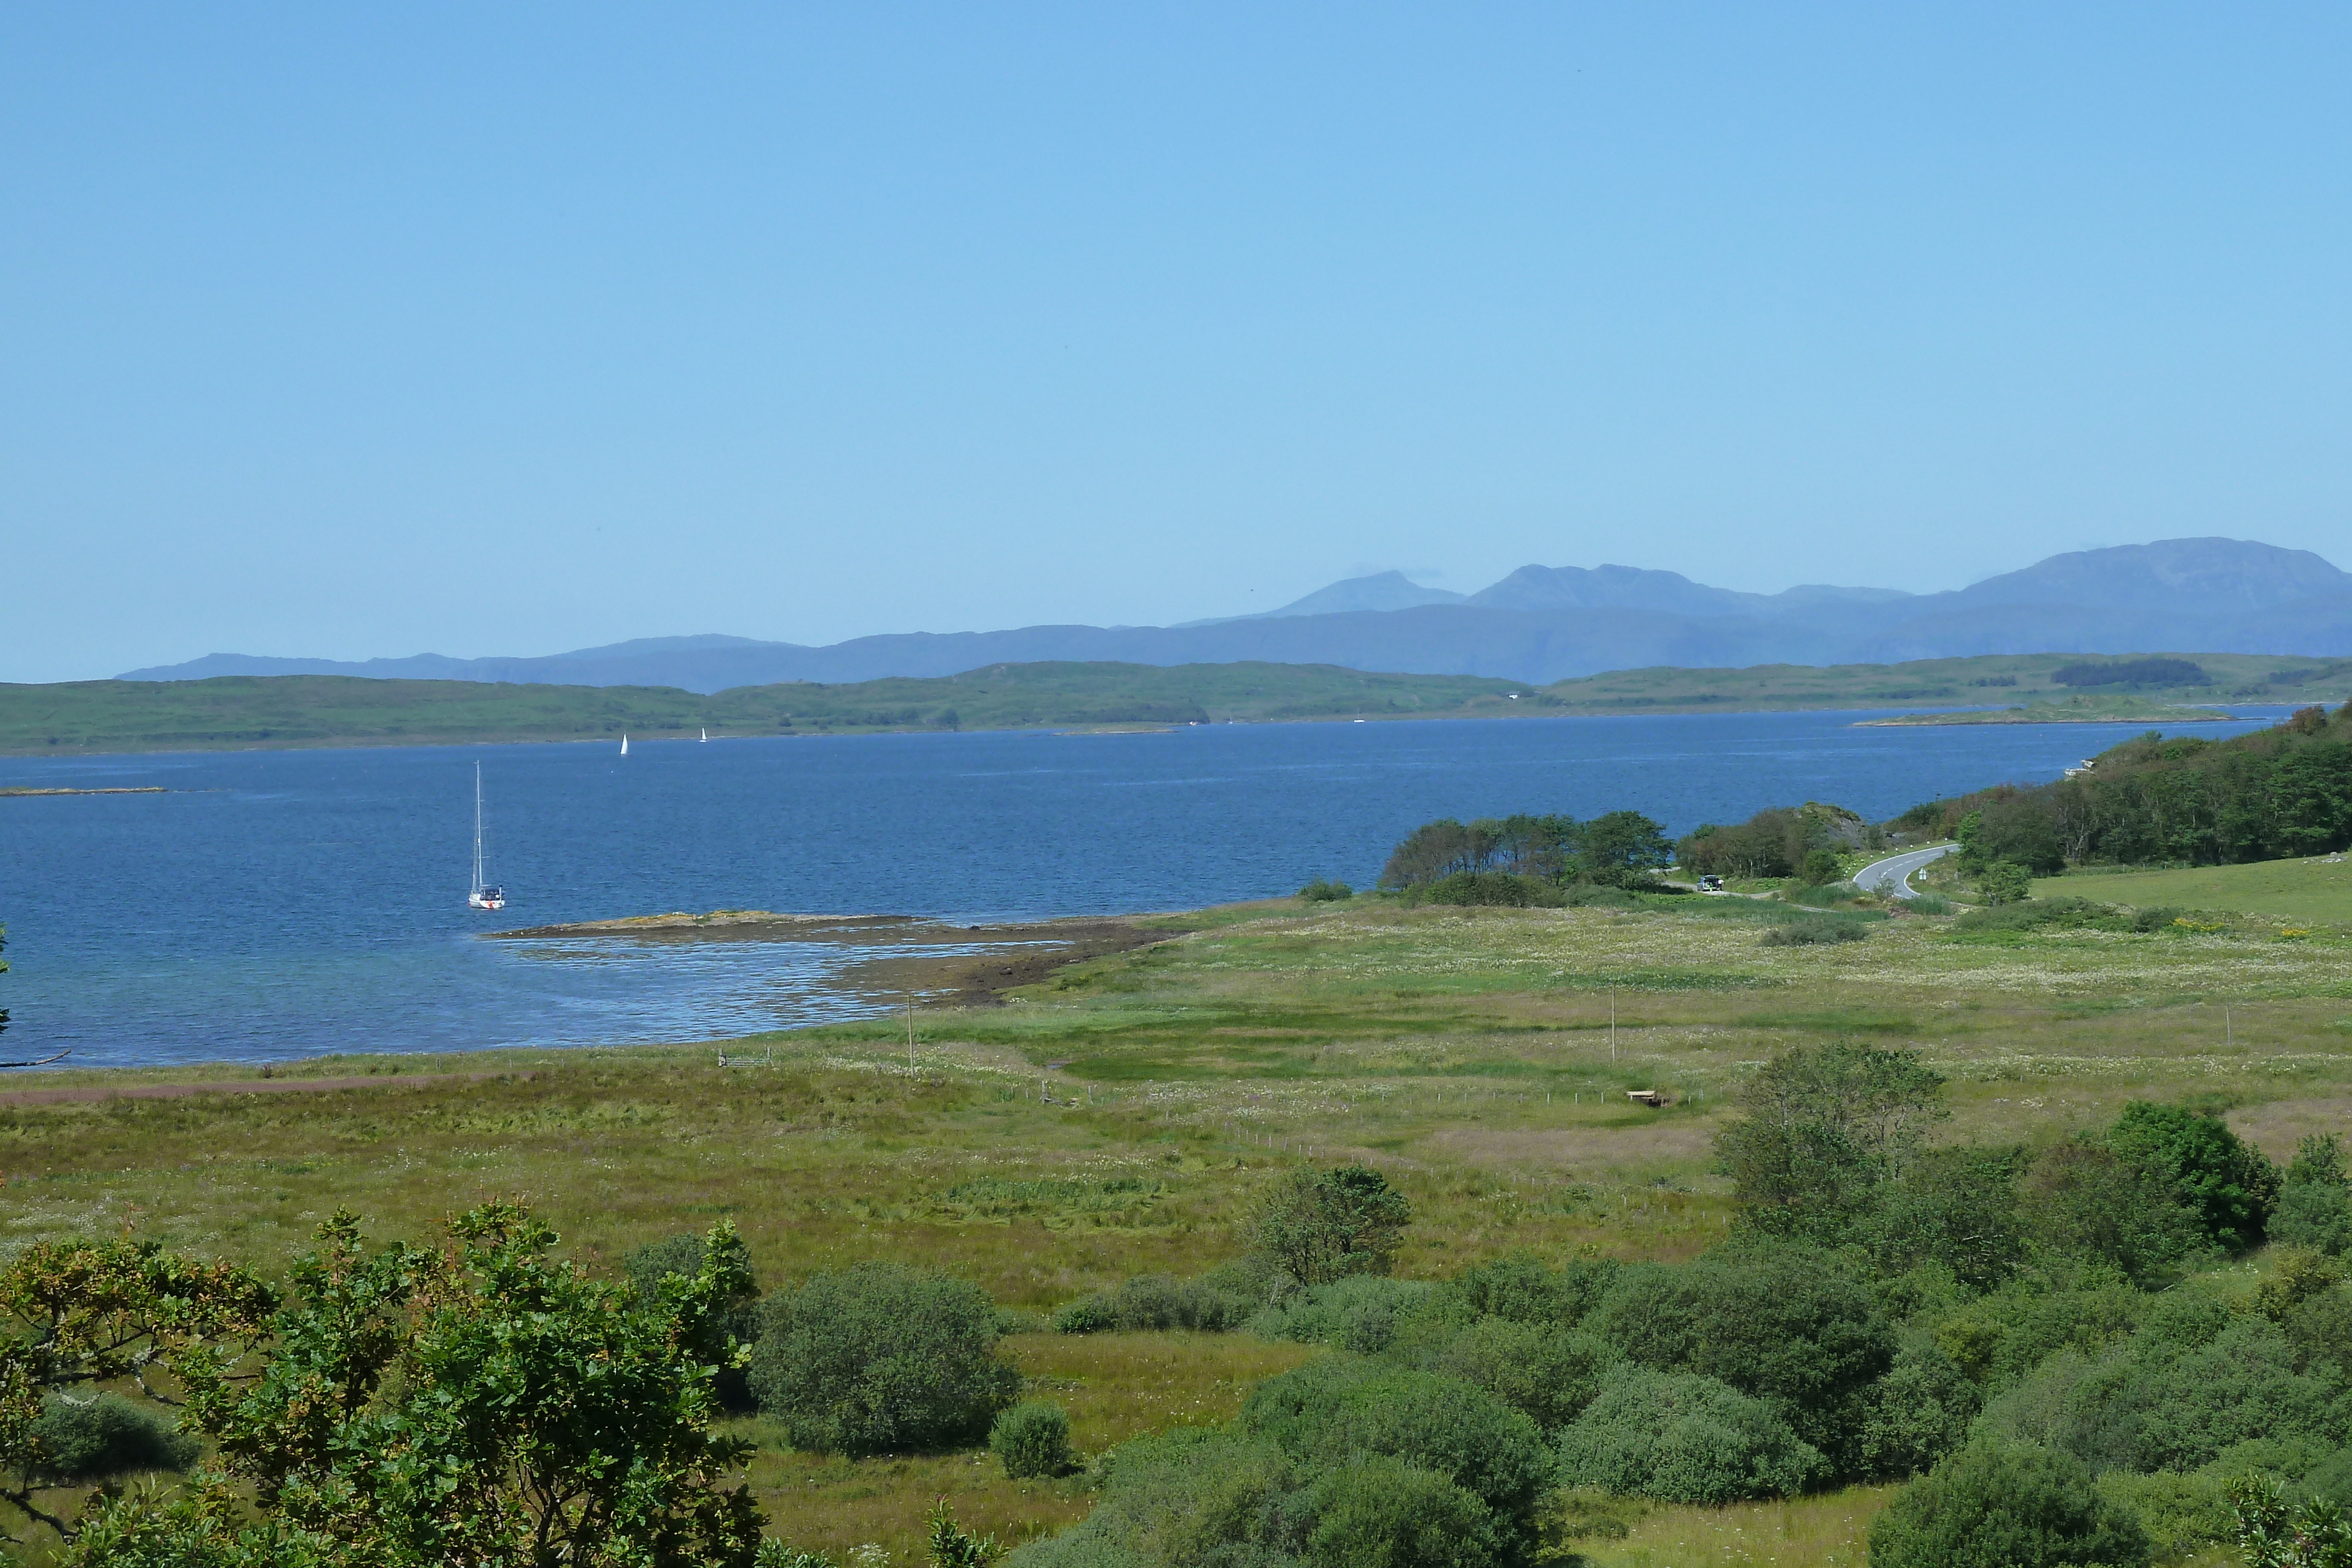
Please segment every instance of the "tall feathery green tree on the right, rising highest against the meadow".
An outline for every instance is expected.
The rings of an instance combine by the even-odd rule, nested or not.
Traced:
[[[1943,1077],[1912,1051],[1799,1046],[1748,1077],[1715,1159],[1759,1229],[1832,1237],[1950,1117],[1940,1095]]]

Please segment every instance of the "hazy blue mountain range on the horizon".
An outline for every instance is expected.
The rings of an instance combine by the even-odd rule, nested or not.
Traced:
[[[541,658],[261,658],[207,654],[120,679],[372,675],[724,691],[786,679],[955,675],[993,663],[1331,663],[1406,675],[1555,682],[1646,665],[1830,665],[1966,654],[2352,654],[2352,574],[2239,538],[2053,555],[1952,592],[1708,588],[1637,567],[1519,567],[1472,595],[1397,571],[1348,578],[1258,616],[1185,625],[894,632],[830,646],[640,637]]]

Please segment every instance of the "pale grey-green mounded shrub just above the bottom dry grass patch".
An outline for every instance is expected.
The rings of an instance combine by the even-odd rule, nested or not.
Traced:
[[[1785,1497],[1823,1458],[1780,1415],[1693,1373],[1625,1371],[1559,1434],[1559,1483],[1661,1502]]]

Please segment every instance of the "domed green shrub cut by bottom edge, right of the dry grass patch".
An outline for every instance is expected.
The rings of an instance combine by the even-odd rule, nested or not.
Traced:
[[[2082,1460],[1973,1443],[1912,1481],[1870,1523],[1870,1568],[2140,1568],[2147,1533]]]

